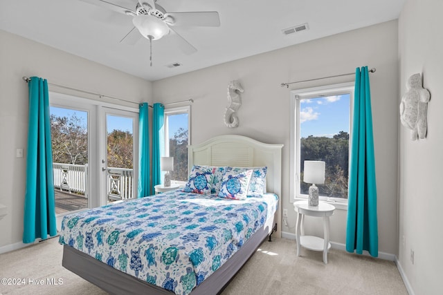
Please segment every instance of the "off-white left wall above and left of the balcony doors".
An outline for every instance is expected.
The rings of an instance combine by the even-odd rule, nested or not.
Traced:
[[[8,207],[8,215],[0,220],[1,252],[19,247],[23,234],[28,85],[21,77],[43,77],[53,84],[132,102],[152,102],[152,83],[3,30],[0,44],[0,204]],[[51,86],[49,90],[99,99]],[[24,158],[15,158],[18,148],[24,148]]]

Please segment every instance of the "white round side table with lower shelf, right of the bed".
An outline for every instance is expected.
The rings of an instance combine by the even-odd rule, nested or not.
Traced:
[[[300,256],[301,247],[309,250],[323,251],[323,262],[327,264],[327,251],[331,247],[329,243],[329,216],[334,214],[335,207],[326,202],[318,202],[318,206],[309,206],[306,201],[293,203],[293,208],[298,212],[297,216],[297,256]],[[323,217],[323,238],[316,236],[305,236],[303,222],[305,215]]]

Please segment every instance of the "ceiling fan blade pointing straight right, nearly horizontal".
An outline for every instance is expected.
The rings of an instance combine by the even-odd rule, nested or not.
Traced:
[[[166,22],[172,26],[220,26],[219,12],[217,11],[169,12],[165,14],[165,17]],[[170,22],[171,17],[172,22]]]

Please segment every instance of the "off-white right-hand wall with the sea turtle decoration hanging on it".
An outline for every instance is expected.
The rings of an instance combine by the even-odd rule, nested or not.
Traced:
[[[411,141],[410,131],[399,128],[398,260],[415,294],[442,294],[442,12],[441,0],[408,0],[399,18],[400,95],[415,73],[431,92],[426,140]]]

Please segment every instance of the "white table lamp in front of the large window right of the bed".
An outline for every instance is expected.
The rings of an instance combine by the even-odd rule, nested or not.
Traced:
[[[316,184],[325,183],[325,162],[305,161],[303,182],[312,184],[309,187],[309,206],[318,206],[318,187],[316,187]]]

